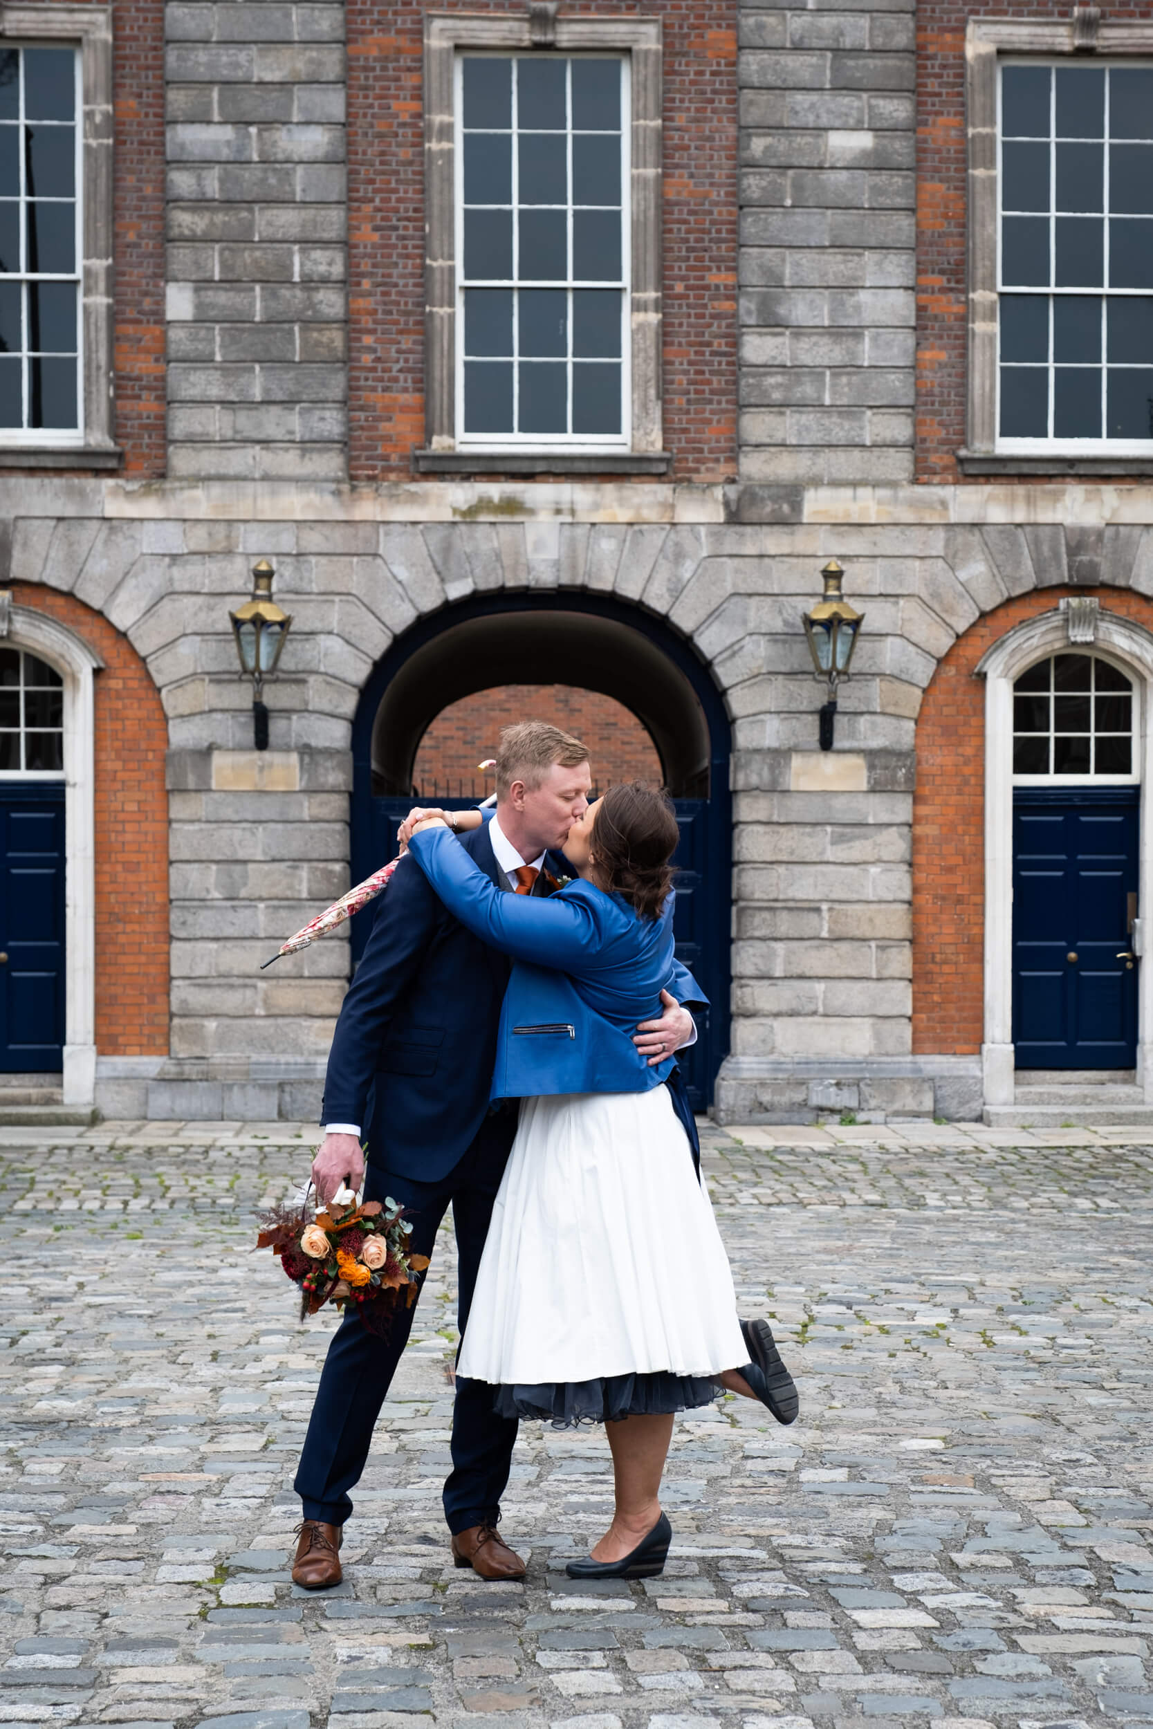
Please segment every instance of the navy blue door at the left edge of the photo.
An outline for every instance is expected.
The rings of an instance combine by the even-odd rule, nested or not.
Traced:
[[[0,1070],[64,1067],[64,787],[0,782]]]

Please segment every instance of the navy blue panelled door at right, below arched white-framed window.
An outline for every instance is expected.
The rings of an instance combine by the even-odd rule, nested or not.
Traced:
[[[1013,801],[1013,1043],[1018,1069],[1137,1060],[1136,787],[1020,790]]]

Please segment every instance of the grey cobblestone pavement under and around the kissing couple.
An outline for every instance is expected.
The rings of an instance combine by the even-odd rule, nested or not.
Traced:
[[[309,1596],[290,1480],[330,1326],[299,1328],[249,1245],[313,1131],[21,1132],[0,1131],[2,1722],[1153,1726],[1136,1134],[710,1131],[742,1305],[773,1316],[802,1420],[738,1399],[678,1420],[672,1556],[633,1585],[564,1577],[607,1523],[603,1432],[524,1428],[526,1585],[446,1565],[446,1231],[346,1582]]]

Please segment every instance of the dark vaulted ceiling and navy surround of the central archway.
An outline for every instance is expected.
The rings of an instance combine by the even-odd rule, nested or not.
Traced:
[[[728,1053],[729,724],[707,669],[662,621],[588,595],[491,595],[429,614],[399,636],[365,685],[353,728],[353,880],[394,854],[417,750],[436,716],[474,692],[545,681],[624,704],[660,757],[681,825],[678,954],[712,1005],[685,1060],[693,1103],[705,1108]],[[354,961],[368,928],[368,918],[353,922]]]

